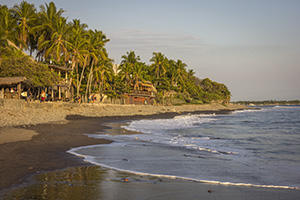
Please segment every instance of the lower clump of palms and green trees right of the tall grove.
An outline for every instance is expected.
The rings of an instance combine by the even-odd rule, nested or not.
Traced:
[[[230,91],[224,84],[210,79],[200,80],[181,60],[169,60],[164,54],[155,52],[150,59],[152,63],[147,66],[133,51],[127,52],[122,58],[119,68],[121,80],[130,89],[136,89],[138,81],[152,82],[158,91],[155,98],[157,103],[227,103],[230,100]]]

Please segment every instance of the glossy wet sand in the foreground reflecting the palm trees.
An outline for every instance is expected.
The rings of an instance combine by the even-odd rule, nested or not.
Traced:
[[[299,190],[212,185],[178,179],[139,176],[98,166],[72,167],[39,174],[33,179],[30,184],[6,191],[2,198],[296,200],[300,195]]]

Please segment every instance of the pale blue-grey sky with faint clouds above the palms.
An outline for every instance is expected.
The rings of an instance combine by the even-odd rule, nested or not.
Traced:
[[[0,0],[12,7],[21,1]],[[50,1],[28,0],[39,5]],[[299,0],[54,0],[102,30],[116,63],[127,51],[181,59],[199,78],[225,83],[232,100],[300,99]]]

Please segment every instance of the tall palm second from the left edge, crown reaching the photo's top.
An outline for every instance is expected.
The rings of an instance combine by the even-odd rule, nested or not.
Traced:
[[[14,18],[18,23],[19,39],[22,41],[19,47],[21,49],[27,49],[29,44],[29,33],[33,27],[33,22],[37,19],[36,9],[34,4],[29,4],[26,1],[22,1],[20,5],[15,5],[12,9]]]

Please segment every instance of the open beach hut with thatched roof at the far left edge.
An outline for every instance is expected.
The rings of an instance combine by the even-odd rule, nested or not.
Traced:
[[[21,77],[0,77],[0,98],[1,99],[20,99],[22,83],[27,78]]]

